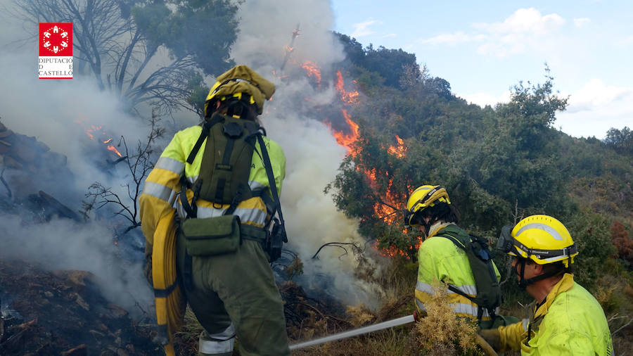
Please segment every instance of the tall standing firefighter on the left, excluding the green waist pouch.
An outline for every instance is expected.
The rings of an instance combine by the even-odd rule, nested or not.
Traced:
[[[274,84],[257,72],[246,65],[238,65],[217,78],[205,101],[205,121],[222,114],[226,120],[234,117],[258,124],[257,116],[262,114],[264,99],[271,98],[274,89]],[[271,167],[264,165],[266,159],[262,158],[259,141],[255,141],[254,148],[250,148],[253,150],[252,156],[249,155],[245,166],[248,175],[246,190],[250,198],[241,200],[236,196],[235,202],[239,202],[236,206],[203,198],[196,200],[193,196],[197,196],[200,186],[194,183],[200,182],[204,191],[205,184],[211,184],[212,179],[198,177],[206,177],[205,170],[214,169],[203,165],[208,162],[203,160],[205,145],[196,145],[196,142],[208,142],[209,139],[202,141],[201,132],[203,129],[200,125],[177,132],[143,186],[140,206],[148,265],[152,265],[151,242],[158,221],[160,217],[173,212],[174,205],[182,221],[181,230],[184,229],[184,222],[193,220],[190,205],[195,205],[193,218],[198,221],[236,215],[241,230],[238,235],[241,234],[241,237],[238,245],[234,246],[234,252],[193,255],[198,251],[189,249],[184,232],[177,236],[179,278],[184,281],[188,305],[204,329],[199,339],[198,355],[232,355],[236,336],[241,355],[289,355],[283,303],[269,265],[269,255],[264,251],[264,241],[245,239],[244,235],[245,231],[250,231],[252,236],[261,236],[264,227],[269,226],[274,215],[274,209],[270,208],[274,204],[271,196],[276,196],[276,193],[271,193],[273,189],[269,182],[274,182],[277,191],[281,189],[286,174],[286,157],[279,144],[264,136]],[[241,128],[238,125],[224,125],[224,132],[237,137],[241,134]],[[216,153],[217,150],[225,149],[229,150],[218,145]],[[214,152],[212,148],[209,151]],[[195,156],[195,159],[188,160],[189,155],[191,158]],[[223,154],[219,159],[226,158],[228,162],[228,156],[233,159],[231,154]],[[227,170],[231,169],[233,163],[224,164],[223,161],[222,166],[219,162],[214,166]],[[267,168],[271,169],[274,179],[270,176],[272,174],[267,174]],[[224,183],[223,189],[217,189],[219,196],[224,190],[230,189],[230,184]],[[188,189],[179,193],[181,184],[185,184]],[[243,193],[241,191],[241,196]],[[227,210],[230,214],[227,214]],[[146,276],[151,281],[151,271],[146,271]]]

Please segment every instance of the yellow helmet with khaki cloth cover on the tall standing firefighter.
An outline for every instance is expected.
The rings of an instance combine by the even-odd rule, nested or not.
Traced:
[[[269,82],[247,65],[236,65],[217,77],[205,99],[205,117],[209,117],[215,108],[210,103],[224,101],[227,98],[242,98],[257,106],[257,114],[264,110],[264,100],[270,99],[275,92],[275,84]],[[211,110],[211,111],[209,111]]]

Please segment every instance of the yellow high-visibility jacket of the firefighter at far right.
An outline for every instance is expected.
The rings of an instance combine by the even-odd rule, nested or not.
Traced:
[[[530,322],[499,326],[502,350],[521,355],[611,355],[613,343],[602,307],[591,293],[564,274]]]

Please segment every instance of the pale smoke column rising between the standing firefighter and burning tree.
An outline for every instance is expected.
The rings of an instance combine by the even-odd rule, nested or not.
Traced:
[[[327,291],[335,298],[348,304],[376,305],[375,286],[353,276],[357,261],[350,249],[343,255],[345,251],[340,248],[325,248],[318,260],[312,260],[324,243],[357,243],[361,247],[365,243],[357,233],[357,221],[338,212],[332,197],[324,193],[345,156],[345,148],[336,143],[321,122],[325,117],[319,117],[317,110],[338,103],[332,74],[334,65],[345,58],[343,47],[331,32],[330,4],[317,0],[246,1],[239,15],[240,34],[231,56],[276,84],[273,100],[264,104],[262,121],[269,137],[286,153],[281,205],[288,248],[299,253],[308,284],[317,284],[316,276],[326,274],[331,281]],[[300,35],[293,40],[297,29]],[[291,51],[287,48],[290,43]],[[284,60],[287,62],[281,70]],[[316,63],[323,74],[318,86],[311,84],[300,68],[306,61]]]

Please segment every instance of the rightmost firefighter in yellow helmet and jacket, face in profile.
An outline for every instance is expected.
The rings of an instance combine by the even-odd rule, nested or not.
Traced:
[[[611,355],[602,307],[570,274],[578,250],[561,222],[526,217],[501,229],[498,247],[513,256],[518,283],[535,303],[528,305],[529,319],[480,331],[490,345],[521,355]]]

